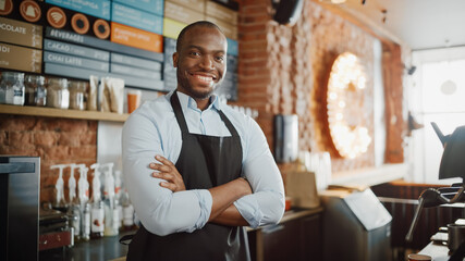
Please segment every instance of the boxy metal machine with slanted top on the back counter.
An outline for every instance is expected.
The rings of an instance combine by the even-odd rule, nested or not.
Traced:
[[[322,191],[325,261],[391,260],[392,216],[371,189]]]

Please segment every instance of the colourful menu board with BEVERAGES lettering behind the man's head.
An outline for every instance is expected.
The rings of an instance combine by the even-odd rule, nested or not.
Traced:
[[[0,71],[110,76],[169,91],[176,87],[175,38],[207,17],[227,34],[231,75],[223,89],[236,97],[237,13],[210,0],[0,0]]]

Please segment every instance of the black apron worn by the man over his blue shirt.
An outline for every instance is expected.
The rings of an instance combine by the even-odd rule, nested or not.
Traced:
[[[175,166],[183,176],[186,189],[208,189],[240,177],[241,138],[224,113],[219,111],[221,120],[231,133],[230,137],[198,135],[188,133],[175,91],[171,96],[171,105],[183,139]],[[244,227],[207,223],[201,229],[193,233],[168,236],[157,236],[140,226],[130,244],[127,253],[127,261],[135,260],[243,261],[250,258]]]

